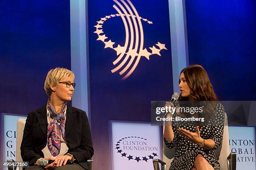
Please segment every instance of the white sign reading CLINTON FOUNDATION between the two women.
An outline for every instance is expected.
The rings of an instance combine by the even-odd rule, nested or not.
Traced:
[[[153,159],[161,159],[159,126],[117,121],[110,125],[112,170],[148,170],[153,168]]]

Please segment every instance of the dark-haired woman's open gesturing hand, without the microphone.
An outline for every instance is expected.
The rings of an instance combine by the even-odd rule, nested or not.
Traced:
[[[179,132],[187,138],[192,143],[195,143],[197,145],[200,145],[204,140],[200,137],[200,130],[199,127],[197,126],[196,132],[189,132],[188,130],[179,128]]]

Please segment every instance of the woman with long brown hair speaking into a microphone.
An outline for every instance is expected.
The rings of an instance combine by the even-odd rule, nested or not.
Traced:
[[[197,106],[202,112],[174,112],[171,125],[166,122],[164,142],[167,147],[177,145],[170,170],[220,170],[215,150],[223,138],[224,109],[218,102],[207,72],[200,65],[192,65],[181,71],[179,78],[181,95],[178,107]],[[166,102],[166,106],[172,106]],[[199,109],[200,110],[200,109]],[[176,117],[201,118],[197,121],[181,121]],[[203,120],[203,121],[202,121]]]

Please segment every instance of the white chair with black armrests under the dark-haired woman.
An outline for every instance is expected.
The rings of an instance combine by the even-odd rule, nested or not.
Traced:
[[[224,125],[223,140],[220,143],[220,147],[216,150],[216,157],[220,163],[221,170],[236,170],[236,153],[230,153],[229,149],[228,118],[226,114]],[[176,149],[176,147],[172,149],[167,148],[163,142],[163,161],[154,159],[154,170],[160,170],[159,163],[161,164],[161,170],[169,170]]]

